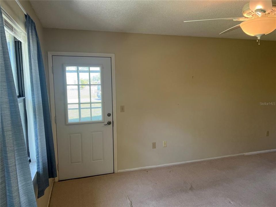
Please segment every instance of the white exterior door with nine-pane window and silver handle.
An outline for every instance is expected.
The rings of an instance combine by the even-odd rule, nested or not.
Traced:
[[[111,58],[52,59],[59,179],[113,173]]]

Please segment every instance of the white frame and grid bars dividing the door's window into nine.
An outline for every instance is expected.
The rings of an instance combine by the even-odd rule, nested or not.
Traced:
[[[67,84],[67,77],[66,77],[66,72],[68,67],[76,67],[76,74],[77,74],[77,84]],[[79,68],[85,68],[88,67],[88,72],[89,72],[89,83],[88,84],[81,84],[80,83],[80,77],[79,77]],[[103,89],[103,78],[102,78],[102,65],[64,65],[64,86],[65,86],[65,110],[66,110],[66,124],[85,124],[85,123],[96,123],[96,122],[104,122],[104,89]],[[99,68],[99,70],[90,70],[90,68]],[[98,84],[92,84],[91,83],[91,73],[100,73],[100,83]],[[68,94],[67,94],[67,87],[68,86],[77,86],[78,88],[78,102],[75,103],[68,103]],[[81,101],[81,86],[89,86],[89,98],[90,102],[82,102]],[[100,101],[92,101],[91,97],[91,86],[100,86],[101,89],[101,100]],[[90,119],[91,120],[81,120],[81,105],[82,104],[89,104],[90,105]],[[100,104],[99,107],[94,107],[93,109],[96,108],[101,108],[101,119],[99,120],[92,120],[92,104]],[[69,121],[69,114],[68,114],[68,105],[78,105],[78,121]]]

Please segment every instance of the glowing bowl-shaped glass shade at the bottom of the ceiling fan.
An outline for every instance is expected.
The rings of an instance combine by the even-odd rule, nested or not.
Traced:
[[[269,34],[276,29],[276,18],[263,15],[244,21],[240,26],[244,33],[250,36]]]

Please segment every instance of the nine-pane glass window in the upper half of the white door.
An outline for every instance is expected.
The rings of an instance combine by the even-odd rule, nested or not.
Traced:
[[[67,123],[102,121],[101,66],[65,66]]]

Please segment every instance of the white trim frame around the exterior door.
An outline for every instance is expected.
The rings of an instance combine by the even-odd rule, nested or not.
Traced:
[[[53,76],[53,59],[52,56],[83,56],[83,57],[110,57],[111,58],[111,79],[112,79],[112,110],[113,110],[113,168],[114,173],[118,173],[118,155],[117,155],[117,115],[116,115],[116,82],[115,82],[115,54],[113,53],[83,53],[83,52],[55,52],[48,51],[48,72],[49,72],[49,102],[51,109],[51,121],[53,131],[53,141],[55,148],[56,167],[58,166],[57,157],[57,128],[55,124],[55,91],[54,91],[54,76]],[[57,167],[58,169],[58,167]],[[59,173],[55,182],[59,181]]]

